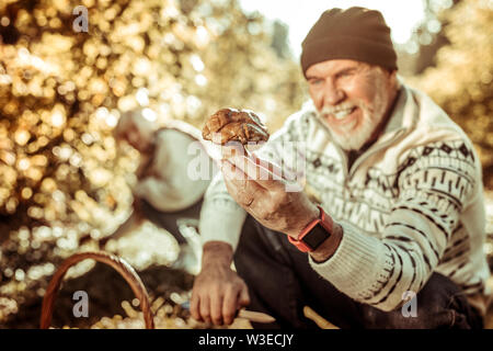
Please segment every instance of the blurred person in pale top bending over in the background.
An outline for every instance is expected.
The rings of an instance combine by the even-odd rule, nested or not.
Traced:
[[[176,239],[181,248],[176,268],[196,265],[199,242],[194,234],[211,176],[199,177],[191,166],[199,161],[214,172],[214,163],[200,144],[200,132],[182,121],[169,120],[158,127],[146,118],[144,110],[135,110],[122,115],[114,137],[137,149],[140,163],[131,188],[133,214],[105,241],[135,230],[147,219]]]

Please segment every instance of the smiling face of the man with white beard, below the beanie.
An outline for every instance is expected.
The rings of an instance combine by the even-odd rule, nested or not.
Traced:
[[[310,97],[345,150],[359,150],[378,136],[398,92],[395,71],[352,59],[333,59],[307,69]]]

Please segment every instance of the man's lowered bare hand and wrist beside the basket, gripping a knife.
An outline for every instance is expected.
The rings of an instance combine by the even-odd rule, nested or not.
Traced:
[[[202,271],[194,282],[190,312],[196,320],[230,325],[237,312],[250,304],[244,281],[231,270],[232,248],[221,241],[204,245]]]

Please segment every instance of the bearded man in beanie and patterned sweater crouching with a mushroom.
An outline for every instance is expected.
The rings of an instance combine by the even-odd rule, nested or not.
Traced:
[[[275,317],[267,327],[309,328],[308,305],[341,328],[482,326],[481,165],[395,61],[379,12],[320,16],[301,54],[312,103],[257,152],[272,165],[231,158],[208,188],[195,318],[230,324],[249,305]],[[286,191],[272,172],[300,156],[305,191]]]

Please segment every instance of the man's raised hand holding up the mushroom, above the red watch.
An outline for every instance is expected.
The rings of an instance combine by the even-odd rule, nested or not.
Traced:
[[[300,190],[286,191],[280,169],[252,156],[233,156],[222,161],[222,174],[230,195],[265,227],[295,239],[319,216],[319,210]]]

